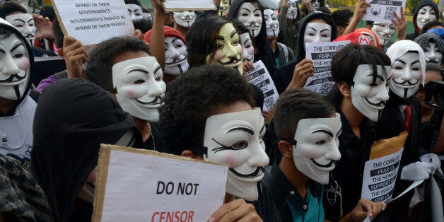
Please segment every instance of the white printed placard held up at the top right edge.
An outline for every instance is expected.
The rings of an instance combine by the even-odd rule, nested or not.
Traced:
[[[401,17],[401,6],[405,10],[405,0],[366,0],[370,7],[367,13],[363,14],[362,20],[376,21],[380,23],[392,24],[392,20],[397,21],[393,13]]]

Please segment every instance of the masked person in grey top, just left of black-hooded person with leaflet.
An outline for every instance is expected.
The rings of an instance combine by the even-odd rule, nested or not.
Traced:
[[[273,59],[276,63],[276,68],[279,68],[293,59],[293,51],[281,42],[276,41],[279,35],[279,21],[277,20],[273,10],[265,9],[264,18],[265,24],[267,25],[268,42],[271,46],[271,52],[273,52]]]

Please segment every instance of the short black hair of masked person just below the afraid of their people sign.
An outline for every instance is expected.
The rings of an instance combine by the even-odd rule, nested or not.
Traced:
[[[144,51],[148,54],[149,47],[144,41],[134,37],[112,37],[96,45],[88,55],[86,78],[103,89],[115,93],[112,84],[112,66],[115,57],[124,52]]]

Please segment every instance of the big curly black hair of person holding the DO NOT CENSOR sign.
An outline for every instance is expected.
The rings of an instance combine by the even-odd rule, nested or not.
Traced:
[[[203,146],[206,119],[240,101],[255,107],[253,90],[236,69],[218,64],[189,69],[168,84],[160,108],[165,144],[176,155]]]

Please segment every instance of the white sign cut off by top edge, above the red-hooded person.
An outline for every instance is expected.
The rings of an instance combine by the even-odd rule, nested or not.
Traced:
[[[165,11],[217,10],[213,0],[167,0],[163,2]]]

